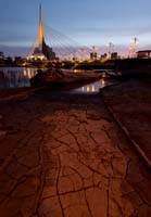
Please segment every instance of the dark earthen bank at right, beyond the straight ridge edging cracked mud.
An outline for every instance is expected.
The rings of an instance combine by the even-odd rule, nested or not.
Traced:
[[[151,167],[151,79],[122,82],[101,92],[106,106]]]

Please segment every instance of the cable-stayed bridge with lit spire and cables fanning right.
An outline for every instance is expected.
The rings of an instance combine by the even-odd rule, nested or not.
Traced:
[[[27,56],[28,59],[50,61],[80,59],[84,61],[89,59],[90,52],[92,52],[92,49],[81,46],[59,30],[43,25],[41,5],[39,7],[38,34]]]

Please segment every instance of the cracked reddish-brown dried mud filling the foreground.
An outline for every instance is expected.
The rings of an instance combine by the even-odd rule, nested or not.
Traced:
[[[151,216],[151,175],[99,93],[8,91],[0,93],[2,217]]]

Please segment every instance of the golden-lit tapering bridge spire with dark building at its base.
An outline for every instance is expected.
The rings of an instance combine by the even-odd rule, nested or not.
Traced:
[[[52,51],[52,48],[46,44],[45,41],[41,4],[39,7],[39,26],[38,26],[37,46],[36,48],[34,48],[34,51],[32,55],[29,55],[29,59],[55,60],[55,53]]]

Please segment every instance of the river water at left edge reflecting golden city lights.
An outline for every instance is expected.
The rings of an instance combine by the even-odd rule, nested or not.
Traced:
[[[35,76],[36,68],[0,68],[0,88],[29,87],[29,79]]]

